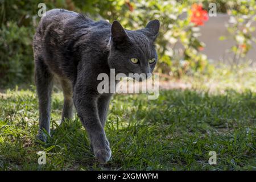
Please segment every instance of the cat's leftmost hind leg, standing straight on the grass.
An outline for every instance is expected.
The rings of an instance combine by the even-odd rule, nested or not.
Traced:
[[[52,78],[52,73],[43,59],[36,57],[35,84],[39,99],[39,131],[37,137],[43,142],[46,142],[47,139],[44,130],[50,135]]]

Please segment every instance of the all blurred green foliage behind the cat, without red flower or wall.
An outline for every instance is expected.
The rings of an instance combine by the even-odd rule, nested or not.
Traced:
[[[107,19],[110,22],[117,19],[127,29],[137,29],[146,26],[152,19],[161,23],[156,48],[159,53],[159,63],[156,67],[159,73],[174,77],[191,75],[196,72],[209,73],[207,56],[200,51],[204,43],[200,42],[200,27],[191,23],[191,7],[193,3],[202,3],[208,10],[210,2],[217,4],[217,11],[231,12],[237,24],[229,27],[233,38],[243,38],[241,45],[233,47],[238,55],[245,56],[250,49],[253,27],[248,22],[255,20],[254,1],[175,1],[175,0],[110,0],[110,1],[79,1],[79,0],[0,0],[0,85],[15,85],[24,82],[30,84],[33,72],[32,36],[40,18],[37,15],[38,3],[46,3],[47,10],[62,8],[88,14],[93,19]],[[232,11],[230,11],[232,9]],[[247,18],[245,18],[245,16]],[[250,19],[250,20],[249,20]],[[248,21],[249,20],[249,21]],[[240,25],[242,24],[243,30]],[[250,24],[250,23],[249,23]],[[2,36],[3,35],[3,36]],[[240,39],[241,40],[241,39]]]

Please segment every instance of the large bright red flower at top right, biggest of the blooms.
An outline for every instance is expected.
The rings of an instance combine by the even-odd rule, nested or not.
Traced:
[[[191,22],[195,23],[196,26],[204,25],[204,22],[209,19],[208,13],[206,10],[203,10],[202,5],[193,4],[191,11]]]

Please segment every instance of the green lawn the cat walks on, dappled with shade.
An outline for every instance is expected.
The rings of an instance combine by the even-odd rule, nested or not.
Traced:
[[[113,155],[107,164],[94,159],[77,116],[58,126],[62,101],[55,92],[52,138],[42,143],[35,138],[34,86],[0,93],[1,170],[256,169],[256,93],[250,89],[162,90],[157,100],[115,95],[105,126]],[[46,165],[38,164],[38,151],[46,152]],[[216,165],[209,165],[209,151],[216,151]]]

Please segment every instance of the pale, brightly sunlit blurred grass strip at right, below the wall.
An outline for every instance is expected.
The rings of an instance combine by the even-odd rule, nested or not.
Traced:
[[[237,92],[251,90],[256,92],[256,68],[242,64],[234,68],[227,65],[218,65],[210,75],[195,75],[184,77],[191,83],[193,89],[207,90],[209,92],[224,93],[226,89],[233,89]]]

